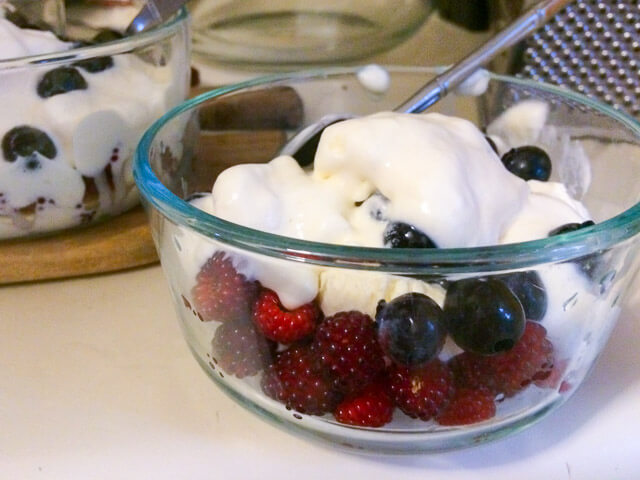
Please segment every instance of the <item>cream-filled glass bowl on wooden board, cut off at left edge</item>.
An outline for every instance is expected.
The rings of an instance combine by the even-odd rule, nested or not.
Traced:
[[[94,42],[63,43],[3,21],[12,29],[6,38],[20,32],[27,52],[50,53],[0,60],[0,240],[92,224],[137,205],[135,146],[187,98],[187,11],[131,37],[102,31]]]

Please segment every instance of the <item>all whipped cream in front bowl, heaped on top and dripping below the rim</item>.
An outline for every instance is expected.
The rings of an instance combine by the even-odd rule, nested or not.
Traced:
[[[538,103],[527,107],[535,113],[528,117],[533,123],[518,122],[517,135],[501,137],[503,148],[514,138],[540,136],[547,110]],[[492,128],[494,135],[514,117],[506,115]],[[590,218],[562,183],[513,175],[471,122],[437,113],[382,112],[333,124],[323,132],[312,171],[289,156],[234,166],[197,206],[261,231],[367,247],[385,246],[392,222],[413,225],[440,248],[455,248],[542,238],[559,225]],[[213,253],[199,251],[192,273]],[[373,315],[378,300],[398,292],[428,290],[437,301],[443,298],[439,286],[404,277],[240,256],[248,261],[238,262],[238,270],[275,290],[287,308],[318,298],[325,314],[351,304]]]

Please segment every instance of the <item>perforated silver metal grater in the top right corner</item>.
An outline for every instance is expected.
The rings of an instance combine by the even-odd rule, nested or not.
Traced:
[[[510,73],[640,118],[640,1],[576,1],[513,52]]]

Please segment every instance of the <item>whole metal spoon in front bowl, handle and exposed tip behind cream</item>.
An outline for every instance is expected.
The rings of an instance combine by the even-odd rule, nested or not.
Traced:
[[[572,1],[544,0],[539,2],[470,55],[424,85],[411,98],[395,108],[395,111],[406,113],[424,111],[447,95],[452,88],[469,78],[472,73],[498,53],[515,45],[534,30],[540,28]],[[348,118],[353,118],[353,115],[333,114],[322,117],[318,122],[296,133],[280,150],[280,154],[291,155],[302,166],[310,165],[313,162],[322,131],[329,125]]]

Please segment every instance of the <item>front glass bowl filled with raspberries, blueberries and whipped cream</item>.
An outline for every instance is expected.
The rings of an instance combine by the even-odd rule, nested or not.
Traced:
[[[294,432],[410,453],[517,431],[580,386],[637,270],[634,120],[492,74],[428,113],[389,112],[434,73],[252,80],[182,104],[138,146],[189,347]],[[278,155],[331,113],[354,118],[311,160]]]

